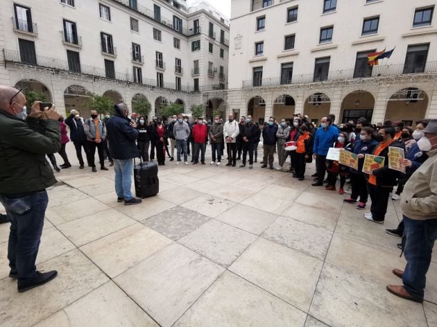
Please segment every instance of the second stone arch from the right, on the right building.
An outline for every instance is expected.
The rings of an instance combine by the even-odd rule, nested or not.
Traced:
[[[369,91],[352,91],[341,102],[340,123],[357,122],[360,117],[372,121],[375,97]]]

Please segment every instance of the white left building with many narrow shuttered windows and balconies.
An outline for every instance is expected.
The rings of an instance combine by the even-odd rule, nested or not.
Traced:
[[[0,0],[0,85],[43,91],[61,112],[89,115],[90,93],[203,104],[227,89],[229,21],[185,0]],[[223,101],[212,99],[212,109]]]

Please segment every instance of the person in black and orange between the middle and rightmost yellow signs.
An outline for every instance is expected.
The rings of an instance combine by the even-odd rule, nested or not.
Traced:
[[[384,157],[384,167],[372,170],[368,179],[368,190],[372,206],[370,213],[365,213],[364,218],[378,224],[384,224],[387,212],[388,197],[400,175],[397,170],[388,168],[388,147],[403,148],[402,143],[395,141],[395,129],[393,127],[382,127],[378,131],[377,141],[380,143],[373,151],[373,155]],[[364,165],[366,166],[366,165]]]

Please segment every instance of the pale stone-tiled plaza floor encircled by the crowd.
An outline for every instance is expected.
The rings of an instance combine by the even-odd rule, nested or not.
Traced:
[[[37,258],[58,277],[19,294],[0,225],[0,326],[437,326],[437,257],[422,304],[386,292],[404,258],[384,225],[289,173],[160,167],[160,193],[123,206],[114,171],[56,173]],[[262,151],[260,151],[261,153]],[[60,157],[58,162],[62,164]],[[261,156],[258,157],[261,161]]]

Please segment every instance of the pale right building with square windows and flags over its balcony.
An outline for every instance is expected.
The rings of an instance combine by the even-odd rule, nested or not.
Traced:
[[[228,111],[437,118],[434,0],[232,0]],[[368,53],[391,51],[368,64]],[[386,55],[389,53],[386,53]],[[219,93],[220,91],[217,91]]]

